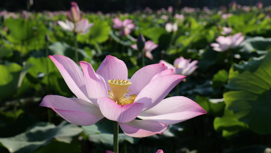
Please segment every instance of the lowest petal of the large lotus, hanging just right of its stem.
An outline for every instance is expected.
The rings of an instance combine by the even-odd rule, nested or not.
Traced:
[[[119,123],[123,132],[130,137],[148,137],[155,134],[163,134],[167,124],[151,120],[132,120],[128,123]]]

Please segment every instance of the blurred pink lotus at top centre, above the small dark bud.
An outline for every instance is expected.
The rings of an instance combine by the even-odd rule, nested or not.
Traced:
[[[113,28],[119,30],[119,35],[127,36],[131,33],[131,30],[135,28],[135,24],[132,23],[133,20],[125,19],[124,21],[119,20],[119,18],[114,18]]]

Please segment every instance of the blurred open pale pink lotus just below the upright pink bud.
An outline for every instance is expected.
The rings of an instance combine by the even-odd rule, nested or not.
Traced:
[[[69,20],[65,20],[66,22],[63,21],[57,21],[57,23],[64,29],[67,31],[71,31],[71,32],[75,32],[77,34],[80,35],[84,35],[87,34],[89,32],[89,28],[91,28],[94,23],[88,23],[88,20],[82,19],[79,22],[75,23],[75,27],[73,22],[69,21]]]

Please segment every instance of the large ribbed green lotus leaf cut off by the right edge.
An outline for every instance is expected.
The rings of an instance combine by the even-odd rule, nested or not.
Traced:
[[[250,62],[257,62],[257,67],[250,68],[253,65],[248,64],[243,66],[247,70],[231,68],[228,90],[223,95],[226,107],[253,132],[270,134],[271,53]]]

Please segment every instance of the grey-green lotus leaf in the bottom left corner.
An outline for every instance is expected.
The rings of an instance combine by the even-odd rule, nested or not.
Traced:
[[[14,137],[0,138],[0,142],[10,152],[33,152],[40,146],[49,144],[53,139],[70,143],[72,140],[71,137],[81,132],[81,127],[67,121],[63,121],[57,126],[40,123],[31,130]]]

